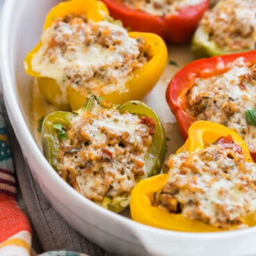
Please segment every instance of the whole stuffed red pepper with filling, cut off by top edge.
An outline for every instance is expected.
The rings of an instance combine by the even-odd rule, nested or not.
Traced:
[[[209,0],[102,0],[116,19],[135,31],[160,35],[174,43],[189,42]]]

